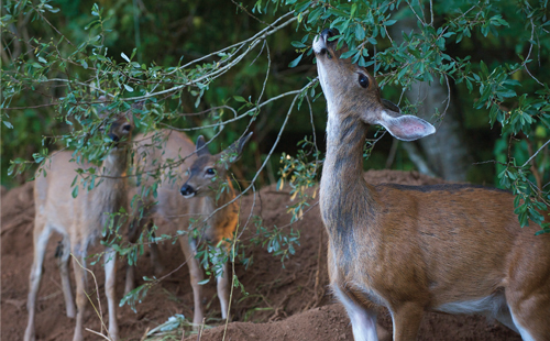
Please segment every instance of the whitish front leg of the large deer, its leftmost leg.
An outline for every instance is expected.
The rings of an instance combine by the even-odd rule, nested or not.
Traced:
[[[376,311],[361,307],[338,287],[334,288],[334,294],[350,317],[353,339],[355,341],[378,341]]]

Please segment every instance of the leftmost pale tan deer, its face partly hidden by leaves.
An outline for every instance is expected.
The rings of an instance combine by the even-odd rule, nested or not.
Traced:
[[[106,118],[107,120],[107,118]],[[61,256],[58,266],[62,275],[63,295],[67,316],[76,315],[76,328],[73,340],[80,341],[82,336],[84,311],[87,304],[86,296],[86,256],[88,246],[101,239],[101,234],[109,221],[109,213],[127,208],[125,172],[133,130],[133,118],[130,112],[118,114],[101,130],[112,140],[109,154],[100,167],[91,164],[76,164],[70,162],[72,152],[58,152],[46,162],[44,169],[47,176],[36,175],[34,182],[34,202],[36,217],[34,221],[34,258],[31,267],[30,290],[26,307],[29,324],[24,340],[35,339],[34,315],[36,310],[36,295],[42,278],[44,254],[52,232],[62,234]],[[96,168],[96,174],[105,176],[94,189],[80,191],[72,197],[70,185],[76,175],[76,168]],[[76,309],[70,290],[68,261],[73,254],[73,270],[76,280]],[[109,337],[119,339],[117,324],[116,283],[116,252],[107,248],[105,252],[106,296],[109,306]]]

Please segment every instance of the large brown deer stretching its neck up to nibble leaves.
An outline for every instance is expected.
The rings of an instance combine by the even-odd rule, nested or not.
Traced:
[[[550,235],[519,227],[512,194],[363,179],[370,124],[404,141],[435,128],[382,100],[366,69],[340,58],[348,47],[329,40],[338,34],[324,30],[314,42],[328,106],[320,210],[330,285],[355,341],[378,340],[380,306],[392,314],[395,341],[416,340],[427,310],[482,314],[524,340],[550,340]]]

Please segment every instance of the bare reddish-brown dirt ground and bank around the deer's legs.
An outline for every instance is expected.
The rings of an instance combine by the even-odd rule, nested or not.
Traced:
[[[370,170],[365,177],[371,183],[397,183],[428,185],[442,183],[440,179],[421,176],[414,172]],[[312,201],[315,204],[316,200]],[[289,222],[286,207],[292,205],[288,191],[277,191],[275,187],[260,190],[255,197],[242,200],[241,222],[245,226],[254,204],[254,213],[263,218],[265,227],[285,227]],[[29,271],[32,264],[32,230],[34,204],[32,184],[2,190],[1,197],[1,339],[21,340],[28,322],[25,308],[29,290]],[[326,266],[327,235],[319,216],[318,206],[307,211],[304,219],[285,230],[300,231],[300,246],[296,254],[285,261],[268,254],[265,249],[248,249],[246,255],[253,256],[253,264],[245,270],[235,264],[235,273],[244,285],[248,296],[234,288],[231,318],[227,330],[219,319],[220,308],[212,283],[206,285],[205,299],[209,319],[207,323],[218,327],[208,329],[201,340],[353,340],[349,319],[343,308],[328,292]],[[243,239],[255,232],[251,222]],[[45,272],[38,293],[36,315],[37,340],[72,340],[74,320],[65,315],[65,306],[59,285],[59,275],[54,258],[58,237],[53,235],[45,260]],[[100,251],[100,246],[95,250]],[[177,268],[183,262],[178,244],[161,245],[162,260],[166,272]],[[100,265],[90,266],[97,276],[100,295],[103,294],[103,272]],[[122,296],[124,265],[119,262],[117,293]],[[148,253],[140,260],[139,278],[153,276]],[[92,289],[91,278],[89,288]],[[143,283],[143,282],[141,282]],[[107,315],[107,302],[101,296],[101,307]],[[133,312],[128,306],[119,309],[120,333],[124,340],[143,340],[147,330],[164,323],[168,317],[182,314],[193,319],[193,294],[187,267],[183,266],[158,286],[152,288]],[[380,318],[381,324],[391,330],[388,315]],[[85,327],[100,331],[98,315],[88,307]],[[86,340],[100,340],[86,332]],[[175,340],[175,339],[174,339]],[[190,337],[186,340],[197,340]],[[449,316],[427,314],[424,317],[418,340],[521,340],[515,332],[495,321],[477,316]]]

